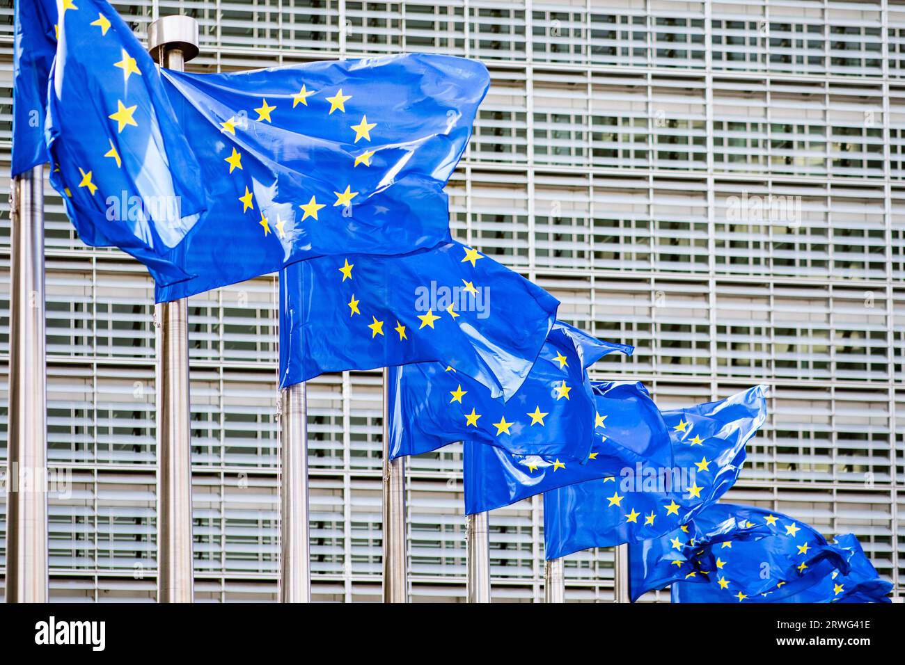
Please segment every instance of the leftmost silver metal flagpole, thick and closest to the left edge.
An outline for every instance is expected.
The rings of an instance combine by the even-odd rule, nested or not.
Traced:
[[[13,180],[6,602],[47,602],[44,176]]]

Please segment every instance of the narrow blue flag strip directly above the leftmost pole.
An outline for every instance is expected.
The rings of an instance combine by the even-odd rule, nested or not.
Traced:
[[[56,52],[56,2],[14,3],[12,175],[44,164],[47,83]]]

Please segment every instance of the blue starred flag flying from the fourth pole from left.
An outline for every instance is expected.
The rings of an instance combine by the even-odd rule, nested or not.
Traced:
[[[496,301],[496,300],[494,300]],[[602,342],[562,321],[509,401],[445,363],[394,367],[389,378],[390,454],[417,455],[473,441],[517,455],[584,461],[594,439],[595,405],[586,367],[632,347]]]

